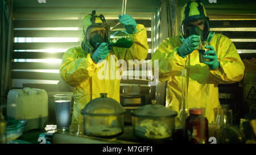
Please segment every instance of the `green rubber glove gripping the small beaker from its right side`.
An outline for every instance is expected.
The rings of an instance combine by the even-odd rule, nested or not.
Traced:
[[[205,48],[210,49],[207,52],[204,52],[205,55],[208,56],[203,56],[204,58],[209,58],[211,61],[210,62],[204,62],[204,64],[207,64],[209,66],[210,69],[214,70],[217,69],[218,66],[220,65],[220,62],[218,62],[217,58],[218,55],[215,51],[215,49],[211,46],[211,45],[207,45],[205,46]]]

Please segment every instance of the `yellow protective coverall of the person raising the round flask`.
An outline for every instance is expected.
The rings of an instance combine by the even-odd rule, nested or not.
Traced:
[[[99,21],[100,19],[96,18],[96,23]],[[84,30],[90,24],[89,15],[84,19]],[[68,49],[62,57],[60,76],[70,86],[75,87],[72,124],[77,123],[78,103],[81,103],[81,109],[83,109],[91,99],[100,97],[100,93],[108,93],[108,98],[119,102],[122,68],[117,61],[143,60],[147,57],[147,53],[147,33],[142,24],[137,24],[137,33],[135,33],[134,44],[131,48],[113,47],[106,61],[99,64],[92,60],[92,54],[87,54],[81,47]],[[115,74],[116,72],[119,74]]]

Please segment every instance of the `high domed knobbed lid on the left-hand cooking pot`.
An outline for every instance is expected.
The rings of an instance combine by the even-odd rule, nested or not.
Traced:
[[[90,100],[90,102],[86,104],[81,111],[82,115],[116,115],[126,112],[125,108],[116,100],[107,98],[107,93],[101,93],[100,95],[100,98]]]

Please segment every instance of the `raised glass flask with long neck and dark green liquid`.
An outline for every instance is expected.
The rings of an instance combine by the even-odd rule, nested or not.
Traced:
[[[121,16],[126,14],[126,2],[123,0]],[[133,45],[134,33],[128,33],[122,23],[117,23],[110,31],[110,45],[130,48]]]

